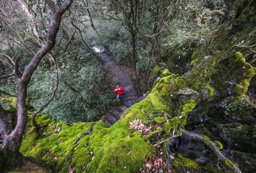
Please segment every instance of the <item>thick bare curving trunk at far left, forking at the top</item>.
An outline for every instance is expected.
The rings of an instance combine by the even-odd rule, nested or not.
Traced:
[[[55,6],[52,0],[45,0],[51,11],[51,21],[48,27],[47,41],[34,55],[30,63],[25,67],[20,78],[17,78],[19,89],[17,97],[17,124],[11,133],[5,133],[0,147],[0,157],[6,160],[15,159],[19,154],[22,135],[25,131],[28,114],[26,111],[27,86],[32,74],[36,70],[40,60],[53,48],[56,40],[62,14],[71,5],[72,0],[66,0],[61,6]],[[3,122],[3,121],[0,121]],[[2,161],[2,160],[1,160]],[[3,160],[5,161],[5,160]],[[8,165],[6,165],[8,166]]]

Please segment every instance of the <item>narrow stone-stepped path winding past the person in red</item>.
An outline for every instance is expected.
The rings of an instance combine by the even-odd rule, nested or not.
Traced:
[[[104,113],[104,118],[102,118],[107,126],[111,126],[122,115],[123,111],[128,109],[130,106],[138,102],[138,97],[136,95],[134,84],[128,74],[123,72],[118,65],[114,63],[112,58],[107,54],[101,54],[102,60],[104,62],[104,68],[109,70],[113,76],[116,76],[119,80],[119,85],[124,87],[125,95],[120,97],[122,105],[113,106],[108,112]],[[114,89],[115,86],[113,86]]]

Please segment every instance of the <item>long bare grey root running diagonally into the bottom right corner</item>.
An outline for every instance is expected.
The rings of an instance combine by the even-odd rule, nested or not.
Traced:
[[[228,167],[230,167],[235,173],[242,173],[241,170],[239,169],[239,167],[233,163],[232,161],[230,161],[228,158],[226,158],[221,152],[220,150],[218,149],[218,147],[216,146],[216,144],[210,140],[210,138],[208,137],[204,137],[202,135],[199,135],[197,133],[193,133],[191,131],[186,131],[185,129],[182,129],[180,126],[179,126],[179,130],[182,131],[182,133],[190,136],[190,137],[193,137],[199,141],[202,141],[204,142],[206,145],[208,145],[212,151],[214,152],[214,154],[223,162],[225,163]]]

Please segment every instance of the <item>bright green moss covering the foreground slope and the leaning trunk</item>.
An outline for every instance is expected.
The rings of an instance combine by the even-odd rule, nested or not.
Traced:
[[[232,87],[234,91],[232,97],[239,98],[246,92],[250,78],[255,75],[255,69],[245,61],[240,52],[236,51],[234,54],[233,50],[235,44],[255,29],[255,20],[250,24],[245,24],[246,21],[238,18],[239,20],[241,24],[244,24],[242,28],[244,33],[236,31],[241,27],[232,28],[232,38],[234,38],[232,40],[226,35],[230,28],[220,28],[216,31],[218,36],[214,40],[206,39],[198,43],[194,53],[187,54],[185,59],[192,60],[190,68],[188,71],[176,70],[179,75],[171,74],[168,69],[160,71],[160,68],[156,68],[154,74],[161,73],[162,78],[145,99],[127,109],[121,119],[109,128],[105,127],[102,121],[96,122],[92,134],[84,136],[77,145],[72,145],[72,143],[90,128],[92,122],[69,125],[65,122],[51,120],[47,115],[38,114],[36,121],[40,128],[36,130],[30,126],[30,115],[20,152],[56,165],[56,170],[60,173],[66,173],[69,165],[76,167],[77,173],[136,172],[155,149],[140,132],[132,133],[129,130],[130,121],[139,118],[147,124],[148,120],[155,119],[159,121],[158,123],[164,123],[165,136],[170,137],[172,129],[177,129],[178,125],[182,127],[186,125],[188,113],[196,107],[202,97],[201,95],[185,95],[183,98],[173,95],[174,91],[188,87],[201,93],[202,89],[207,89],[210,97],[218,91],[220,97],[225,98],[228,96],[224,92],[228,86],[226,81],[236,79],[236,85]],[[178,55],[175,57],[176,60],[179,59]],[[13,100],[12,102],[11,108],[15,109],[16,103]],[[159,111],[159,113],[149,113],[149,111]],[[164,122],[163,111],[172,118]],[[60,133],[55,130],[57,123],[62,127]],[[233,133],[237,132],[236,129],[230,128],[230,130],[233,130]],[[178,134],[181,135],[180,132]],[[205,138],[207,141],[210,140],[207,136]],[[216,143],[221,148],[220,143]],[[182,155],[178,155],[176,164],[190,169],[199,168],[196,162]],[[229,166],[230,162],[226,161],[226,165]]]

